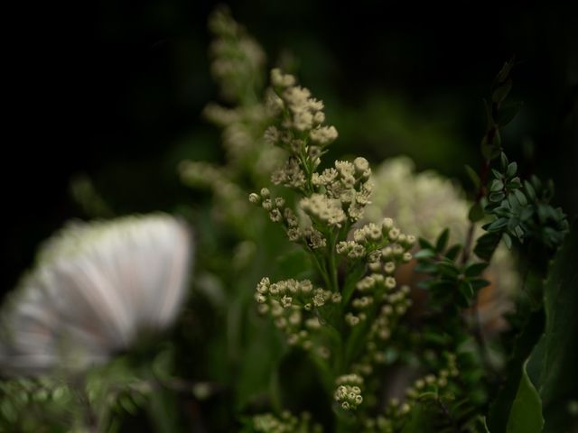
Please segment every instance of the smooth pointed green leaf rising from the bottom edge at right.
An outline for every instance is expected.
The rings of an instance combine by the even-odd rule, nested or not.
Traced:
[[[527,377],[526,364],[524,364],[516,399],[512,402],[512,409],[509,412],[506,431],[507,433],[540,433],[542,426],[544,426],[542,401]]]

